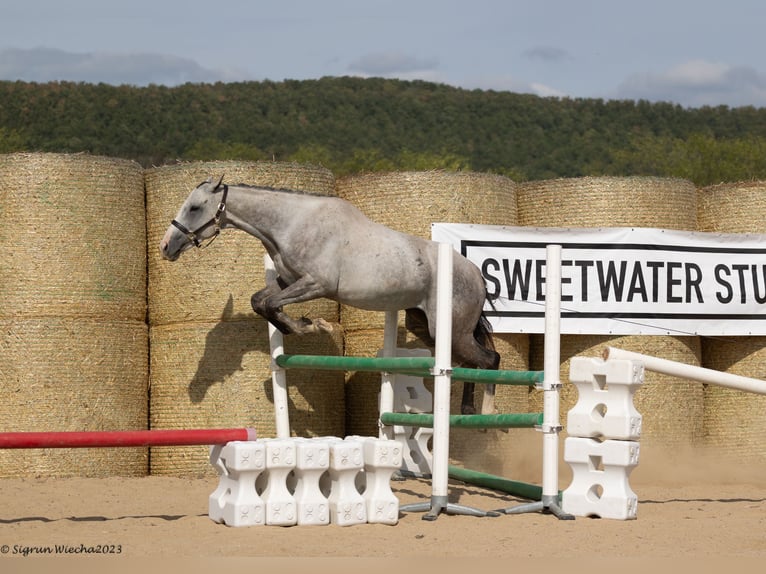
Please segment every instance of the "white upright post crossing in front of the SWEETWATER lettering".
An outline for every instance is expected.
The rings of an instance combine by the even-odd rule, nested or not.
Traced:
[[[543,508],[563,518],[559,506],[559,390],[561,380],[561,246],[546,247],[543,361]]]

